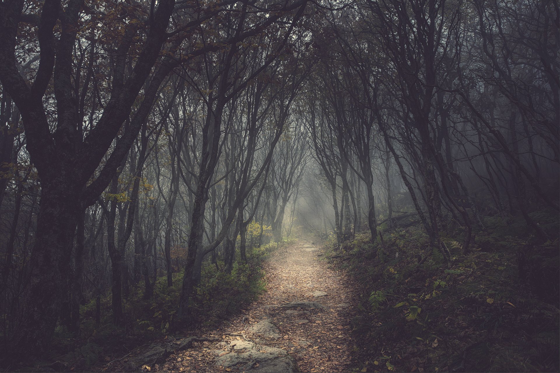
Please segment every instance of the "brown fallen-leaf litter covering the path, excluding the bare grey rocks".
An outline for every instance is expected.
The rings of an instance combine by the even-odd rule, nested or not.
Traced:
[[[227,347],[231,341],[253,341],[261,346],[281,348],[296,359],[301,371],[354,370],[358,343],[352,320],[357,315],[355,306],[360,299],[360,285],[342,271],[331,268],[320,259],[321,255],[314,243],[304,240],[281,246],[263,265],[267,289],[258,300],[228,319],[222,327],[192,333],[208,341],[194,342],[186,350],[174,351],[165,362],[144,367],[144,370],[241,371],[241,366],[223,367],[216,362],[218,356],[234,353]],[[324,308],[277,308],[297,301],[317,302]],[[276,325],[278,338],[254,333],[253,325],[262,320]],[[216,353],[220,350],[222,352]],[[123,370],[128,360],[143,353],[146,353],[145,348],[134,350],[104,369]]]

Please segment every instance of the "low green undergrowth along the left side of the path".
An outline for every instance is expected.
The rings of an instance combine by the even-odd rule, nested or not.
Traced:
[[[267,254],[276,247],[269,244],[248,253],[248,263],[236,262],[231,273],[218,271],[207,263],[203,268],[202,284],[197,300],[192,304],[193,323],[188,329],[174,334],[186,336],[192,330],[220,324],[229,314],[243,308],[264,290],[260,267]],[[223,268],[223,263],[218,262]],[[3,371],[74,372],[91,371],[132,348],[170,338],[170,323],[179,304],[183,272],[173,274],[172,287],[165,276],[157,278],[154,296],[143,300],[144,287],[138,286],[124,300],[125,326],[116,327],[111,316],[110,291],[101,298],[101,322],[96,324],[96,299],[81,308],[80,334],[68,332],[59,325],[50,351],[41,358],[29,357],[23,362],[10,363]],[[94,369],[95,370],[95,369]]]

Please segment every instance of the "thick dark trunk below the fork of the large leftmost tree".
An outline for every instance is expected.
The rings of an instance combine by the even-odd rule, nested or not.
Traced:
[[[70,270],[74,230],[80,214],[79,190],[72,175],[61,173],[43,181],[37,219],[36,242],[31,255],[30,278],[23,299],[21,328],[10,346],[14,354],[46,350],[60,315]]]

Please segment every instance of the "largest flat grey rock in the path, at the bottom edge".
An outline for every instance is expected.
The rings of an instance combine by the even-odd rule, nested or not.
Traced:
[[[251,346],[236,352],[240,342],[243,346]],[[244,372],[299,372],[296,360],[281,348],[262,346],[249,341],[232,341],[230,347],[234,351],[226,355],[218,356],[216,366],[225,368],[236,367],[236,370]]]

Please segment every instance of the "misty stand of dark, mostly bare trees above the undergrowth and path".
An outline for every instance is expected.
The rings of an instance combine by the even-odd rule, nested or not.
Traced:
[[[230,273],[301,232],[340,248],[413,217],[446,261],[487,216],[558,243],[558,3],[0,4],[2,341],[49,347],[158,277],[194,323]],[[555,241],[556,240],[556,241]],[[174,273],[184,273],[175,276]],[[101,312],[101,311],[99,311]],[[98,315],[98,317],[100,317]],[[99,320],[97,320],[99,322]]]

